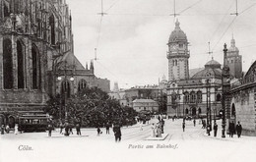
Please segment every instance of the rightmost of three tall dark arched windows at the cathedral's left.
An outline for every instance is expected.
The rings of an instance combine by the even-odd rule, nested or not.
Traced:
[[[32,44],[32,88],[40,88],[40,57],[37,47]]]

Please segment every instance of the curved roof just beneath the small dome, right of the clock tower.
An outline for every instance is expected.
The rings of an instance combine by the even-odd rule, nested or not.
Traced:
[[[204,69],[192,77],[192,79],[204,79],[204,78],[222,79],[222,70],[211,69],[211,68]]]

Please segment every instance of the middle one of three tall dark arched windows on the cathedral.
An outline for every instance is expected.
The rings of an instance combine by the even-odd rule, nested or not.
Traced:
[[[17,41],[18,88],[25,88],[25,47],[22,41]]]

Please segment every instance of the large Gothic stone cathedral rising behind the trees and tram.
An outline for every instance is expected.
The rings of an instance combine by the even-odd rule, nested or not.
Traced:
[[[85,86],[109,91],[74,55],[72,17],[65,0],[0,0],[0,125],[14,127],[26,112],[40,112],[50,96]]]

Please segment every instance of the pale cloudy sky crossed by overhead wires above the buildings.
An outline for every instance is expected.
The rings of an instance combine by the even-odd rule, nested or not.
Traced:
[[[92,59],[96,77],[119,87],[158,84],[167,74],[167,41],[178,19],[190,43],[189,69],[214,57],[235,39],[246,72],[256,59],[256,0],[66,0],[72,13],[75,55]],[[101,20],[101,21],[100,21]],[[101,22],[101,23],[100,23]],[[208,54],[209,43],[210,51]],[[95,52],[96,48],[96,52]],[[96,53],[96,54],[95,54]]]

